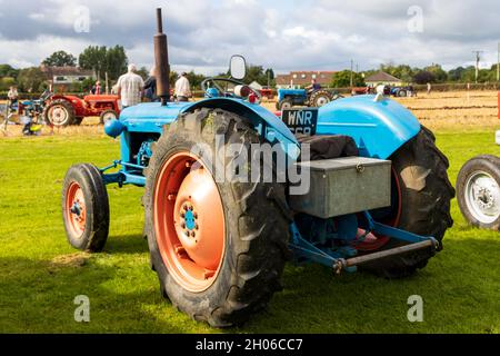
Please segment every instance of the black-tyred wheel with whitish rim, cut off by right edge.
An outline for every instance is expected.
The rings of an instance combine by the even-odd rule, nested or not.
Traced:
[[[480,228],[500,229],[500,158],[479,156],[469,160],[457,179],[460,211]]]

